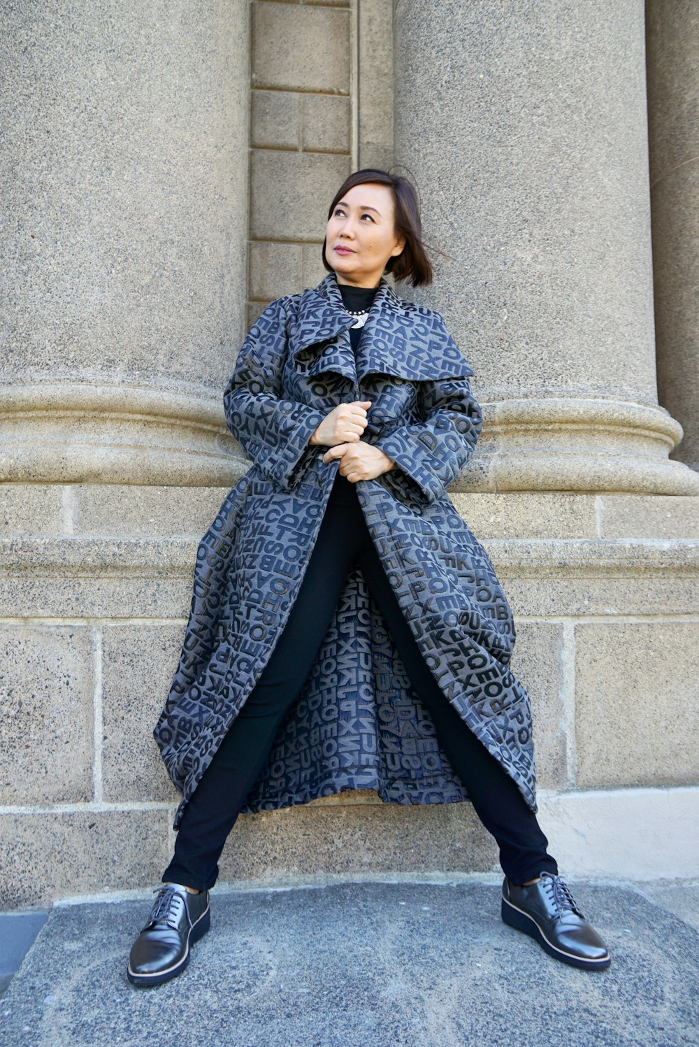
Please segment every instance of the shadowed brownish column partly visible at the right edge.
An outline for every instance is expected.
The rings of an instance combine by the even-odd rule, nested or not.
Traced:
[[[649,0],[648,113],[660,402],[699,469],[699,6]]]

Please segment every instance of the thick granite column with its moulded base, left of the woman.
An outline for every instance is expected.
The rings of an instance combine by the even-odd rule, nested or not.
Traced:
[[[0,481],[226,484],[246,0],[4,5]]]

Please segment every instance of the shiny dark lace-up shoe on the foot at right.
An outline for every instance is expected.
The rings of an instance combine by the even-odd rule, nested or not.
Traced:
[[[518,887],[505,876],[502,919],[523,931],[563,963],[602,971],[611,963],[604,941],[576,905],[565,881],[550,872],[529,887]]]

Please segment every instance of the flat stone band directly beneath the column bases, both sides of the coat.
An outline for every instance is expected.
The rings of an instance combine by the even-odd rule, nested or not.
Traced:
[[[229,490],[228,486],[2,484],[0,535],[199,538]],[[696,496],[474,493],[464,492],[458,483],[449,493],[473,533],[482,540],[699,538]]]

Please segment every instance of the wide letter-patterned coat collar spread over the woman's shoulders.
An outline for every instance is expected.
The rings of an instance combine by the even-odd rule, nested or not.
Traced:
[[[410,381],[465,378],[473,374],[438,313],[399,298],[381,280],[353,353],[350,328],[335,273],[313,290],[303,291],[291,321],[291,352],[309,375],[325,372],[354,382],[368,374],[386,374]]]

